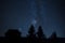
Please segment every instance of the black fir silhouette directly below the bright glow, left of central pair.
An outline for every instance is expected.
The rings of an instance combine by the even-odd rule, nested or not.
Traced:
[[[28,43],[35,43],[35,27],[31,25],[28,31]]]

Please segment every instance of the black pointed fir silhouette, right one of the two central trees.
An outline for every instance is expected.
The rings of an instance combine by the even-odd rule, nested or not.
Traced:
[[[39,43],[46,43],[46,35],[42,31],[41,26],[39,26],[39,28],[38,28],[37,37],[38,37]]]

